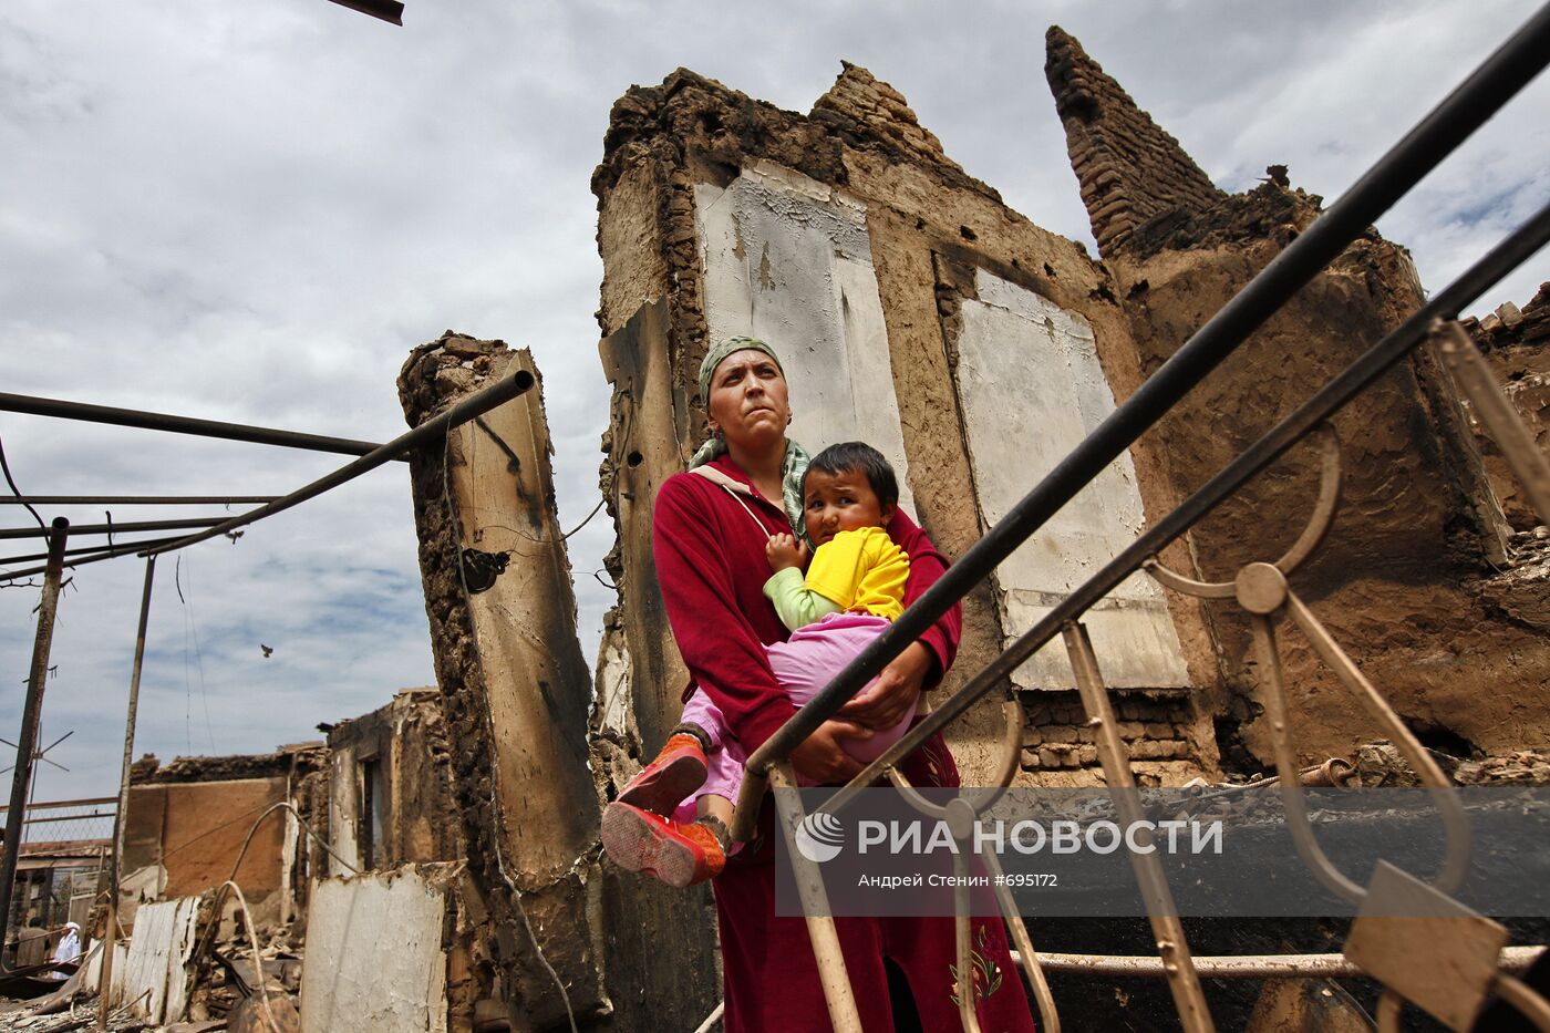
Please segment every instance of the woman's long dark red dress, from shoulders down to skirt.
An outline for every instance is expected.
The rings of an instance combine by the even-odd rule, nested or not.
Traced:
[[[750,484],[728,456],[711,465]],[[764,541],[772,534],[789,534],[790,524],[784,510],[760,498],[758,490],[746,501],[763,530],[725,489],[687,473],[670,478],[657,493],[653,557],[668,622],[694,684],[721,707],[733,734],[752,754],[795,713],[795,707],[775,681],[763,648],[789,634],[763,588],[769,577]],[[910,555],[904,596],[908,606],[942,575],[947,560],[902,512],[888,524],[888,535]],[[947,670],[953,661],[959,628],[961,614],[955,606],[921,636],[939,670]],[[958,768],[939,735],[911,754],[901,769],[914,785],[958,785]],[[808,924],[800,917],[775,915],[772,811],[766,797],[763,847],[733,856],[711,883],[721,931],[727,1033],[831,1028]],[[868,1033],[894,1028],[885,957],[908,980],[924,1028],[959,1028],[952,918],[835,918],[835,929]],[[1028,997],[1012,966],[1001,923],[975,918],[972,941],[972,993],[980,1028],[984,1033],[1032,1033]]]

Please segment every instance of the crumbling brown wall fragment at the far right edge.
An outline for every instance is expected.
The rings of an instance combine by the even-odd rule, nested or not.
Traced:
[[[1550,453],[1550,284],[1541,284],[1522,309],[1508,301],[1483,320],[1466,320],[1465,329],[1485,352],[1534,444]],[[1502,450],[1472,414],[1469,427],[1507,520],[1514,530],[1533,530],[1544,521],[1528,506]]]

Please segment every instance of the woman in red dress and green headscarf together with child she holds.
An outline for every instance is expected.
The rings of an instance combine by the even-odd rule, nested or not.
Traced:
[[[728,1033],[825,1030],[806,923],[775,915],[773,807],[763,808],[763,836],[736,852],[727,800],[747,755],[947,561],[897,509],[893,473],[871,448],[828,450],[809,473],[806,453],[786,437],[786,377],[767,344],[719,343],[699,382],[715,437],[694,468],[662,485],[654,512],[657,579],[694,692],[657,760],[609,805],[604,844],[625,867],[677,886],[715,876]],[[818,548],[811,565],[803,523]],[[857,774],[857,755],[876,757],[902,734],[921,690],[952,664],[958,633],[953,608],[792,752],[797,774],[812,783]],[[958,783],[939,737],[901,769],[921,786]],[[1000,921],[975,926],[992,973],[981,980],[976,966],[972,983],[981,1028],[1031,1031]],[[868,1031],[894,1028],[884,959],[907,979],[924,1028],[958,1028],[955,997],[969,988],[950,971],[952,918],[835,918],[835,928]]]

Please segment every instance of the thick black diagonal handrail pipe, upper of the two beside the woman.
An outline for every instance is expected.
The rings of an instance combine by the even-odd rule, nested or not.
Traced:
[[[1550,5],[1541,8],[1432,109],[1328,211],[1162,363],[1124,405],[1110,413],[877,641],[766,740],[749,757],[747,771],[753,777],[746,780],[744,786],[763,791],[763,776],[775,758],[789,755],[806,741],[894,656],[989,577],[1014,549],[1167,414],[1297,290],[1376,222],[1395,200],[1485,124],[1541,71],[1547,60],[1550,60]],[[1052,628],[1059,628],[1068,619],[1071,614],[1054,622]],[[880,771],[880,765],[873,768]],[[873,771],[874,779],[876,776],[877,771]]]

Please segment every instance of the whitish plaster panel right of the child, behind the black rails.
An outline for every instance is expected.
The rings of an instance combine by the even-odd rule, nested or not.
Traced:
[[[964,299],[956,388],[986,524],[995,524],[1110,413],[1114,397],[1093,329],[1037,293],[978,270]],[[1145,526],[1124,453],[997,568],[1008,642],[1028,631]],[[1105,681],[1125,689],[1189,684],[1162,591],[1130,577],[1085,617]],[[1028,689],[1070,689],[1071,664],[1051,641],[1017,673]]]

